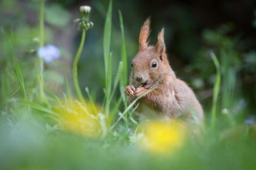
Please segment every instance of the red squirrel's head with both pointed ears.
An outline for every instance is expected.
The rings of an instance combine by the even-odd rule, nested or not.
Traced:
[[[155,46],[148,45],[149,33],[150,19],[148,18],[140,30],[139,52],[132,60],[131,75],[135,86],[143,86],[146,89],[157,85],[164,75],[170,72],[165,52],[164,28],[158,33]]]

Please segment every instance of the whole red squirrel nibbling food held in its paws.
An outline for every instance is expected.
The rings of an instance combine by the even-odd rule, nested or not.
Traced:
[[[130,103],[149,89],[155,88],[138,100],[140,105],[146,104],[151,111],[167,115],[171,118],[182,117],[193,121],[195,116],[199,123],[203,122],[204,114],[193,90],[178,79],[172,70],[166,55],[164,28],[158,33],[155,46],[148,45],[150,19],[142,25],[139,35],[139,52],[132,60],[130,85],[125,93]],[[140,113],[140,105],[137,112]]]

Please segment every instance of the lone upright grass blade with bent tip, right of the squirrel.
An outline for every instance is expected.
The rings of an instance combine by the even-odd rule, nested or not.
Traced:
[[[211,52],[210,55],[217,71],[214,88],[213,88],[213,101],[212,101],[212,111],[211,111],[211,118],[212,118],[211,126],[215,127],[216,116],[217,116],[217,101],[220,93],[220,84],[221,84],[221,72],[220,72],[220,64],[217,57],[213,52]]]

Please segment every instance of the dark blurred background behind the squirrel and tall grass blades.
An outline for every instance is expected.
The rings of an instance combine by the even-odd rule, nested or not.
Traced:
[[[4,0],[0,3],[1,30],[12,30],[18,58],[27,63],[33,60],[29,52],[36,49],[31,40],[36,37],[38,30],[38,3],[28,0]],[[60,61],[45,65],[49,75],[46,81],[55,91],[61,92],[65,87],[63,79],[67,77],[71,80],[71,63],[81,38],[81,32],[77,31],[77,25],[72,21],[78,17],[80,5],[92,7],[91,21],[94,27],[86,33],[85,47],[78,65],[79,81],[82,89],[89,87],[97,101],[102,101],[105,82],[102,37],[108,1],[46,1],[46,44],[54,44],[62,52]],[[209,52],[213,51],[222,67],[222,108],[232,110],[238,107],[238,110],[246,109],[249,114],[254,114],[255,9],[256,1],[253,0],[113,1],[111,51],[116,62],[115,68],[121,60],[118,10],[123,14],[129,63],[138,50],[140,27],[150,16],[150,43],[155,44],[158,31],[165,27],[170,64],[178,77],[195,90],[205,108],[211,106],[215,80],[216,71],[209,56]],[[21,39],[22,42],[19,41]],[[3,68],[6,56],[4,53],[0,55],[0,66]],[[57,74],[58,81],[55,77],[51,78],[52,71]]]

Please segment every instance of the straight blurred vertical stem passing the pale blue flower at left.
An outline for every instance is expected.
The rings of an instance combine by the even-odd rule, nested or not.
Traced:
[[[43,47],[44,46],[44,1],[41,0],[40,3],[40,14],[39,14],[39,46]],[[38,58],[38,67],[39,67],[39,74],[37,77],[38,80],[38,85],[39,85],[39,93],[40,93],[40,98],[41,101],[45,101],[46,97],[44,94],[44,62],[42,58]]]

